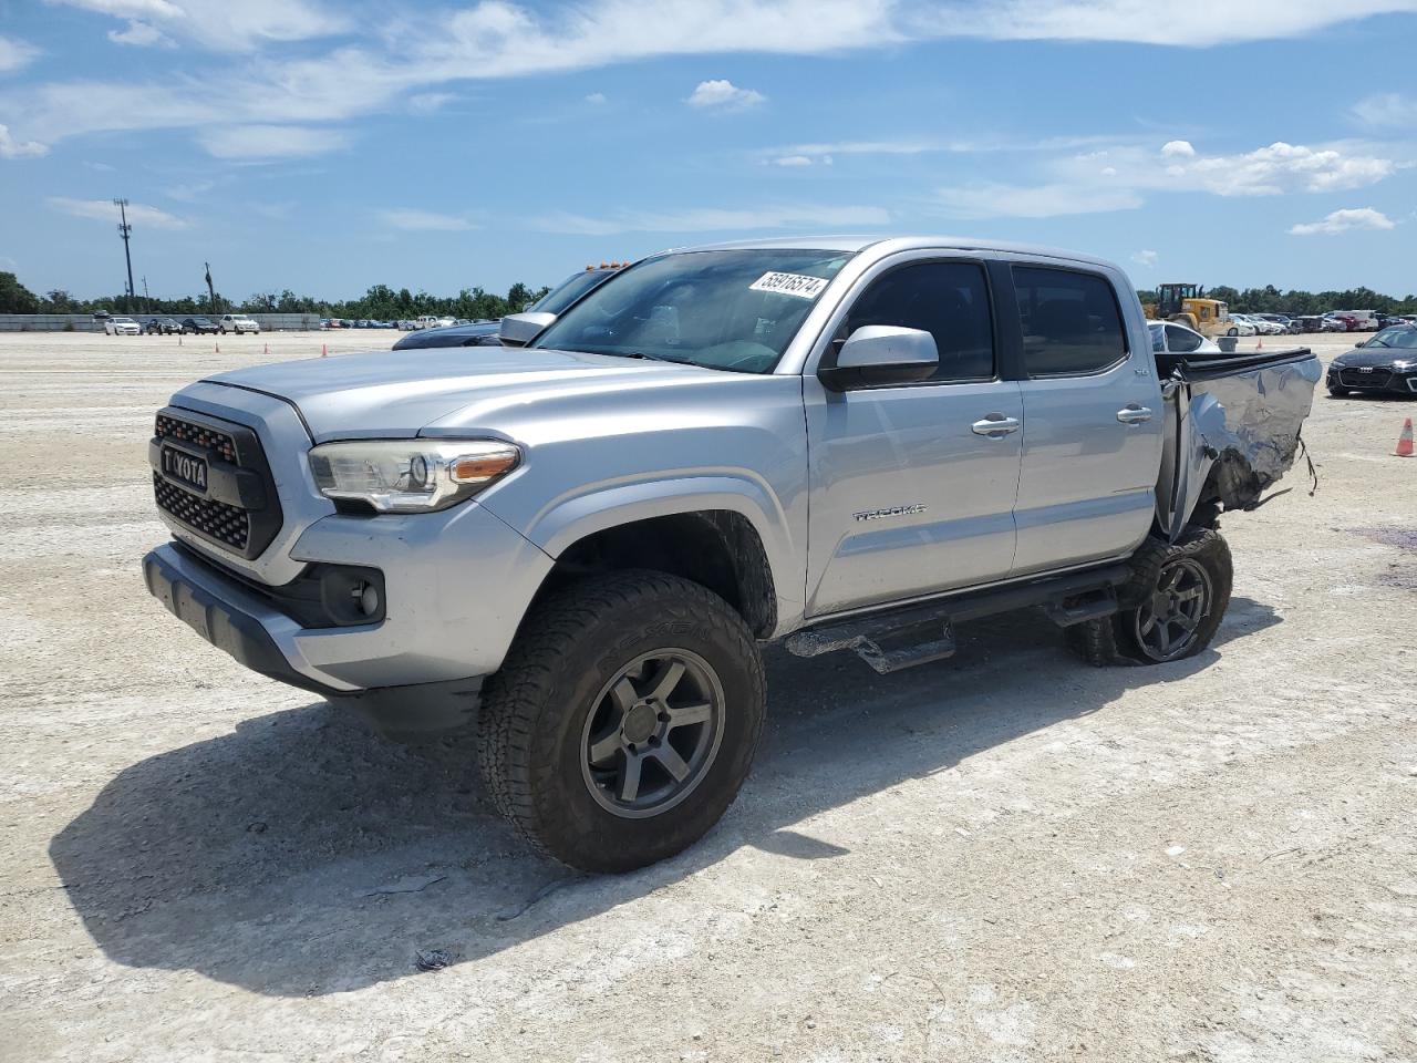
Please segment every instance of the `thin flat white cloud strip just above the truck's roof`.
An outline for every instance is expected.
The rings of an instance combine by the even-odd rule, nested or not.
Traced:
[[[531,220],[543,232],[608,237],[618,232],[751,232],[769,228],[880,228],[890,213],[880,207],[767,206],[741,210],[691,207],[672,211],[621,211],[608,218],[551,211]]]

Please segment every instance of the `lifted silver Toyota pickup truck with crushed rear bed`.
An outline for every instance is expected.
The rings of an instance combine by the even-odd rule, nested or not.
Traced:
[[[1200,652],[1219,517],[1292,465],[1319,378],[1156,354],[1117,266],[958,240],[665,252],[502,334],[183,388],[143,571],[385,733],[472,724],[516,828],[611,872],[733,802],[762,642],[893,672],[1037,607],[1093,665]]]

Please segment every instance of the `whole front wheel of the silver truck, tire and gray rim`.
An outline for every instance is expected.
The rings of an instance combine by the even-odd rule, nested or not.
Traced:
[[[536,848],[628,872],[718,822],[764,706],[752,632],[723,598],[663,573],[594,577],[538,605],[487,682],[482,775]]]

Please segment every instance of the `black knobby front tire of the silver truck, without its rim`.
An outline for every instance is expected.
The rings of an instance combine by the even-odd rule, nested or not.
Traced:
[[[582,778],[587,719],[626,662],[697,655],[723,689],[723,731],[703,777],[648,818],[606,811]],[[656,571],[598,575],[526,618],[483,687],[478,758],[497,811],[536,849],[587,872],[629,872],[699,840],[728,809],[762,734],[762,658],[743,618],[704,587]]]

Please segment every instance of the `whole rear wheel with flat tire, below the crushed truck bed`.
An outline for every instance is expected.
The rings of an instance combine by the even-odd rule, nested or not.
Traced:
[[[1163,665],[1195,656],[1216,636],[1230,605],[1234,570],[1219,532],[1192,529],[1170,544],[1149,537],[1128,564],[1111,617],[1068,628],[1068,642],[1087,663]]]

